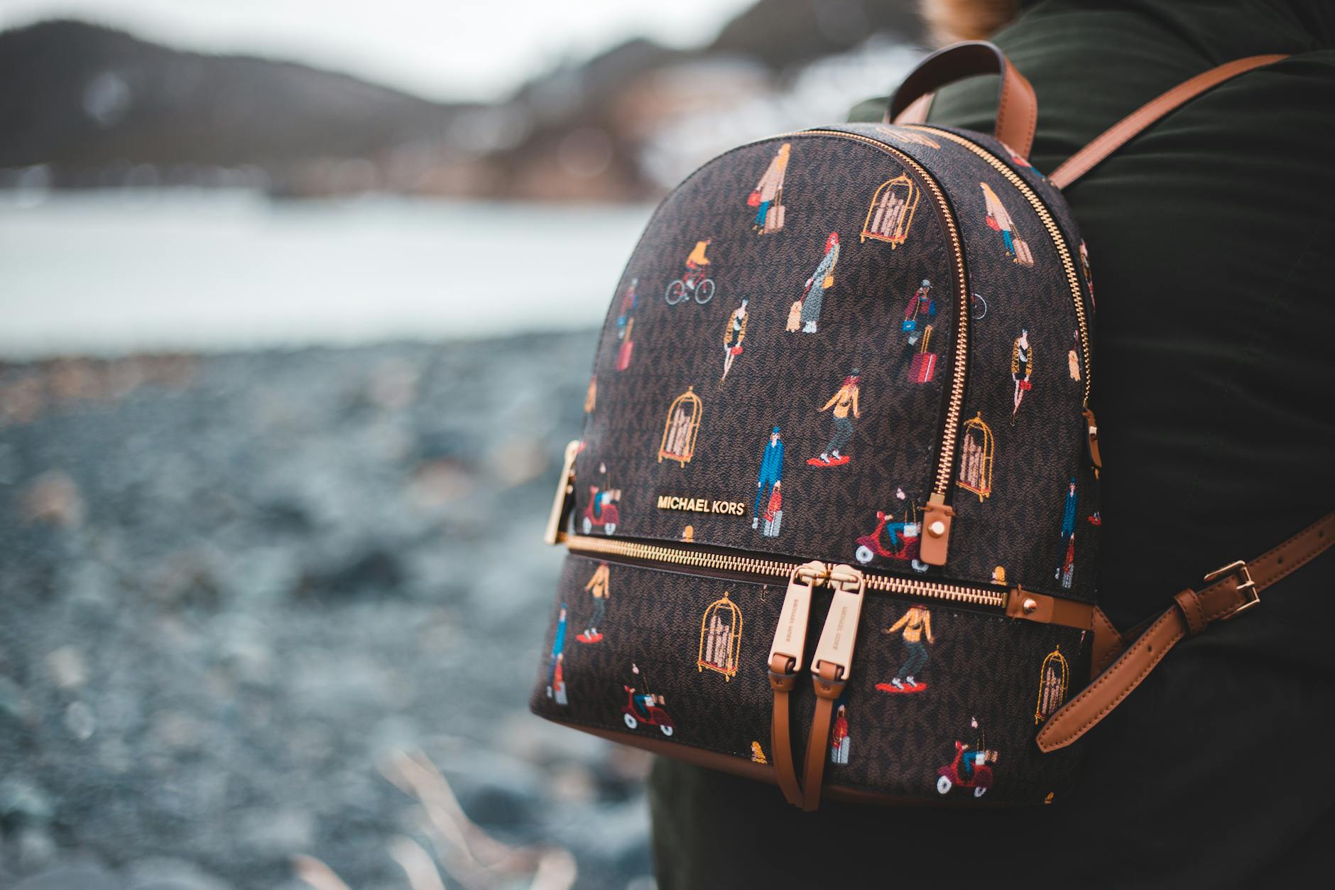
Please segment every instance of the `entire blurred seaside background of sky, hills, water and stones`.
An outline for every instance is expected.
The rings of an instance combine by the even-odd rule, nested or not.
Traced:
[[[622,263],[913,0],[4,0],[0,887],[650,890],[527,714]]]

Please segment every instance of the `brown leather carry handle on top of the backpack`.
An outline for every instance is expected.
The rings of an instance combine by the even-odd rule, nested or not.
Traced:
[[[898,122],[900,114],[924,95],[948,83],[984,73],[1001,75],[1001,84],[997,87],[997,139],[1021,158],[1028,158],[1029,148],[1033,147],[1033,130],[1039,124],[1039,100],[1024,75],[1015,69],[1004,52],[987,40],[956,43],[924,59],[894,91],[885,116]]]

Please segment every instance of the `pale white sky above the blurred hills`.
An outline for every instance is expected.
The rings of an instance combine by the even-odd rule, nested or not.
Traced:
[[[621,40],[705,43],[753,0],[0,0],[0,29],[53,17],[204,52],[343,71],[439,100],[493,100]]]

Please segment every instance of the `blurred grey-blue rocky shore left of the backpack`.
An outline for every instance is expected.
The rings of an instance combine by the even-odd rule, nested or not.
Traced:
[[[593,339],[0,365],[0,886],[651,887],[526,711]]]

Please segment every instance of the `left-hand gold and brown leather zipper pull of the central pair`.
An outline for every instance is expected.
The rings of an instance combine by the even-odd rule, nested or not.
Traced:
[[[774,643],[769,647],[769,687],[774,691],[774,708],[769,722],[769,752],[774,776],[784,798],[794,807],[802,806],[802,788],[793,766],[793,739],[789,720],[789,694],[797,686],[806,648],[806,625],[812,613],[812,589],[825,580],[824,563],[798,565],[788,577],[788,593],[778,612]]]

